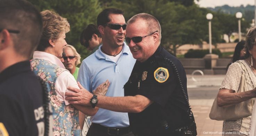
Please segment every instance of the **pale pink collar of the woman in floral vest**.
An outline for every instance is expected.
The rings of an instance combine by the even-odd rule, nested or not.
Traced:
[[[58,65],[61,68],[65,68],[63,63],[58,57],[43,51],[34,51],[33,59],[44,59],[50,61],[52,64]]]

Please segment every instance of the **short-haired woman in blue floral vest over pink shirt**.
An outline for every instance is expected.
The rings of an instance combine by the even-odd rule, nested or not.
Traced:
[[[53,11],[45,10],[41,15],[43,33],[31,60],[31,69],[47,84],[53,112],[53,135],[80,136],[78,110],[87,115],[94,115],[98,108],[71,105],[65,100],[68,86],[79,88],[74,77],[59,60],[63,48],[67,45],[65,34],[69,31],[69,23],[66,18]],[[106,94],[109,82],[106,81],[105,84],[104,89],[97,89],[97,95]]]

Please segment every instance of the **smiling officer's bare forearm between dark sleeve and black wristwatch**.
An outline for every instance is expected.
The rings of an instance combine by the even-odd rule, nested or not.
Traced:
[[[142,95],[125,97],[98,97],[97,107],[124,113],[140,113],[153,101]]]

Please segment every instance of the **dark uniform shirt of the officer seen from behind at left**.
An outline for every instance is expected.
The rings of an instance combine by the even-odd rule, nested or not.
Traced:
[[[0,135],[38,136],[44,132],[42,88],[30,62],[0,73]],[[38,131],[39,129],[39,131]]]

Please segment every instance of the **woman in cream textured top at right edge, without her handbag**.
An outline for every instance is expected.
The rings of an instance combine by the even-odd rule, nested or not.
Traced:
[[[246,36],[245,60],[238,60],[230,65],[217,95],[218,106],[229,106],[241,103],[256,97],[256,27],[249,29]],[[245,74],[247,91],[237,92],[242,73]],[[255,101],[255,99],[253,99]],[[223,122],[224,136],[247,136],[251,116],[238,120]],[[229,132],[229,133],[227,133]],[[251,134],[250,134],[251,135]],[[254,136],[254,134],[253,134]]]

